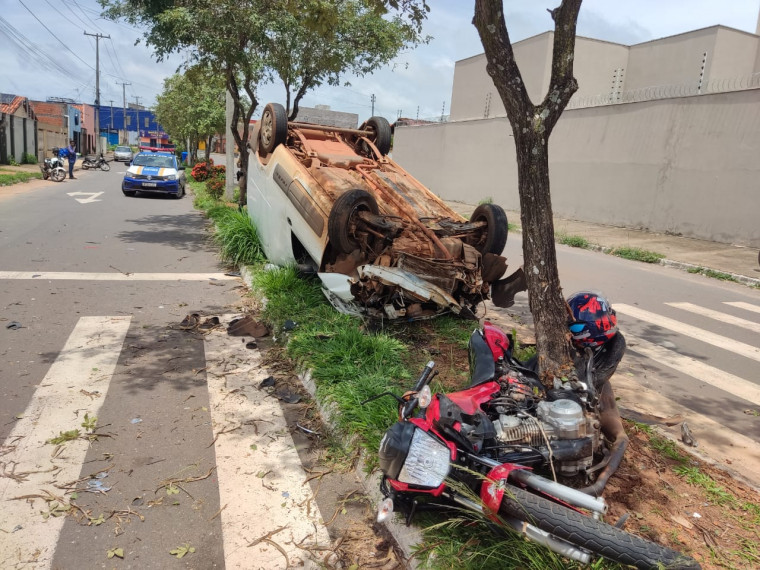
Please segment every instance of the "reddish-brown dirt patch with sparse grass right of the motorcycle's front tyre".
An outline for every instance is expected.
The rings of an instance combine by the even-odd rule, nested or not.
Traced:
[[[665,457],[632,422],[626,431],[630,445],[604,493],[607,520],[629,513],[627,531],[687,553],[703,568],[758,568],[758,493],[697,459]]]

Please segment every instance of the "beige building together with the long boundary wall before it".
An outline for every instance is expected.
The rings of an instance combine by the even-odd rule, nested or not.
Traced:
[[[534,102],[552,43],[546,32],[513,46]],[[458,61],[449,122],[398,128],[393,155],[443,198],[519,209],[511,127],[485,67],[484,54]],[[578,37],[574,74],[550,139],[557,215],[760,246],[760,36]]]

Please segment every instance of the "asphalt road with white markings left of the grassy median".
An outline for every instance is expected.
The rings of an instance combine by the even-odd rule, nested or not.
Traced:
[[[246,392],[258,351],[177,327],[239,312],[242,281],[192,197],[127,198],[112,166],[0,195],[0,568],[98,568],[114,548],[139,568],[276,567],[271,544],[247,543],[277,526],[285,542],[329,537],[298,505],[309,487],[288,475],[300,464],[276,400]],[[49,442],[84,433],[85,414],[97,442]],[[75,488],[79,520],[56,516],[51,498]]]

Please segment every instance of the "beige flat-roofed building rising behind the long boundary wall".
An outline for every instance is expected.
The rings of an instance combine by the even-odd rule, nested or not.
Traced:
[[[517,66],[534,104],[540,103],[549,89],[553,41],[554,33],[545,32],[513,46]],[[630,47],[577,37],[573,74],[578,80],[578,91],[571,105],[573,101],[610,96],[613,92],[619,96],[651,87],[690,86],[696,94],[700,77],[702,92],[743,89],[747,87],[746,82],[740,85],[738,80],[748,80],[758,71],[760,37],[725,26],[712,26]],[[716,88],[721,82],[725,82],[724,88]],[[713,88],[707,89],[708,84]],[[688,90],[672,92],[672,96],[686,94],[690,94]],[[457,61],[449,120],[505,114],[486,72],[485,54]]]

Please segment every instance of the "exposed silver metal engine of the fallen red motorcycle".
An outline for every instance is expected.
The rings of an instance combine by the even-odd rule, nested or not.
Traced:
[[[600,426],[577,394],[555,390],[550,396],[555,399],[546,399],[519,373],[510,373],[500,382],[501,396],[492,401],[492,409],[498,412],[492,423],[500,446],[536,449],[546,459],[551,457],[566,476],[591,467],[594,450],[601,443]]]

